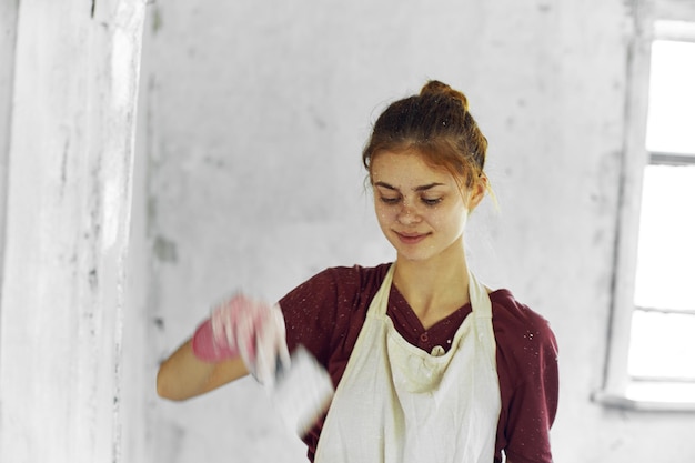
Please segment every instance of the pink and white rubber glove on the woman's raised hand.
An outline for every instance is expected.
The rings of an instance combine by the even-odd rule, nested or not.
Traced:
[[[195,331],[192,346],[195,356],[208,362],[241,355],[261,384],[273,384],[278,362],[290,364],[280,305],[268,305],[241,294],[212,310],[210,319]]]

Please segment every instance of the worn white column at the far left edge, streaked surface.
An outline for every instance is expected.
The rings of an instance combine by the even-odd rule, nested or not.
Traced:
[[[119,462],[144,0],[18,7],[0,461]]]

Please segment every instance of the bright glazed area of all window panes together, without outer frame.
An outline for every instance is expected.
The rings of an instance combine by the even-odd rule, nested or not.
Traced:
[[[646,148],[627,395],[695,402],[695,42],[652,46]]]

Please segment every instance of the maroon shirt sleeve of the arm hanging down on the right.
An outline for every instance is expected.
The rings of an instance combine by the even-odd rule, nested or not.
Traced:
[[[498,443],[511,463],[552,463],[550,430],[557,412],[557,342],[541,315],[523,304],[513,312],[514,320],[504,330],[505,341],[497,341],[501,382],[508,385]]]

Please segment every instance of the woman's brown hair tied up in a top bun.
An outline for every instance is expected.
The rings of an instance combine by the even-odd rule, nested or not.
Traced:
[[[417,150],[433,167],[449,170],[462,187],[472,188],[483,173],[487,139],[469,111],[466,97],[436,80],[420,94],[393,102],[374,123],[362,152],[371,174],[380,152]]]

